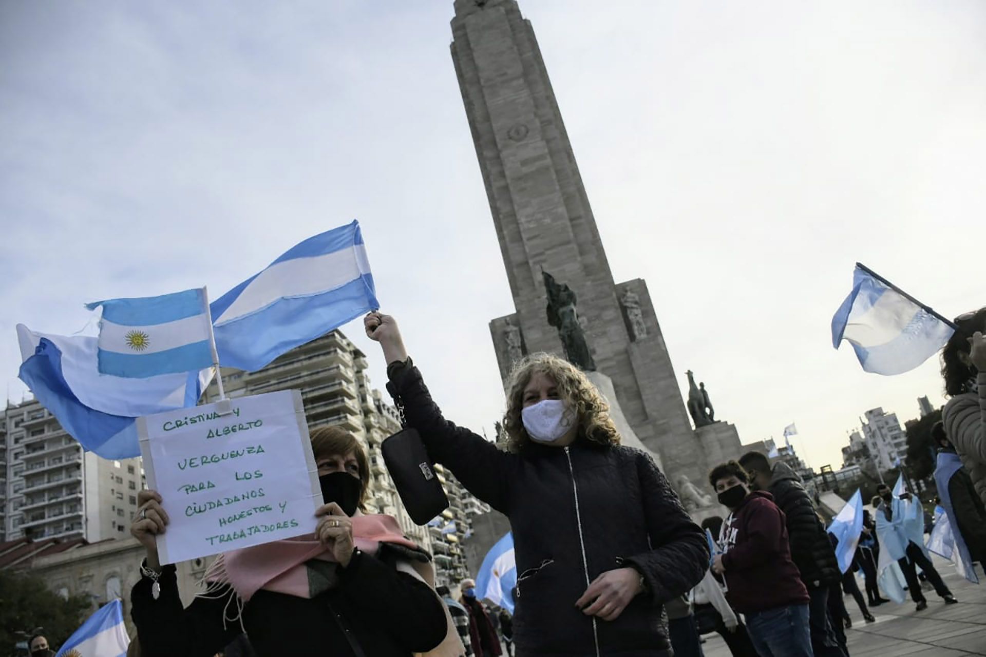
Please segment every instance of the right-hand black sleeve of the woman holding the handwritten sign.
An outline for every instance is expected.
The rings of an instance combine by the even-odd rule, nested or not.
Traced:
[[[339,585],[367,618],[378,619],[381,628],[408,652],[427,652],[448,633],[445,603],[438,594],[380,559],[357,553],[340,570]]]

